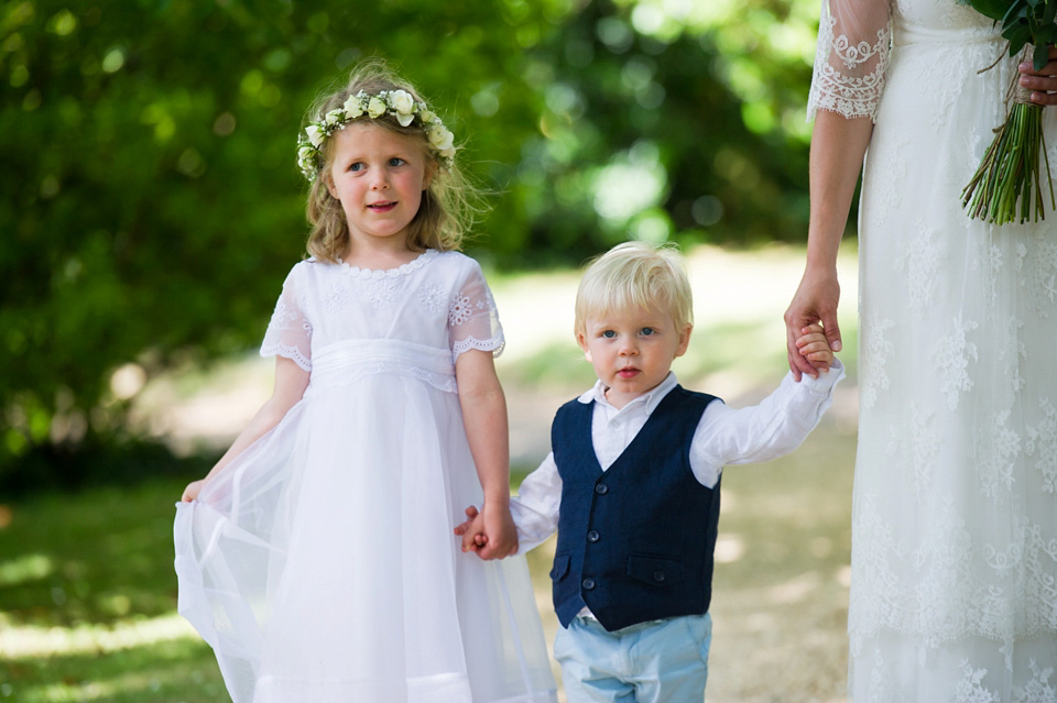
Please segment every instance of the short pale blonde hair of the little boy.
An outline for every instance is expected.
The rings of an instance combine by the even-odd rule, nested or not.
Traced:
[[[624,242],[588,264],[576,292],[575,332],[587,332],[588,318],[632,309],[667,310],[679,331],[694,323],[694,297],[677,246]]]

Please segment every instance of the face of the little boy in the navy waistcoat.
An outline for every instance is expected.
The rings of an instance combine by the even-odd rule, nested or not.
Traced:
[[[686,352],[690,326],[677,330],[666,310],[631,310],[587,318],[576,340],[608,387],[606,398],[622,408],[664,381]]]

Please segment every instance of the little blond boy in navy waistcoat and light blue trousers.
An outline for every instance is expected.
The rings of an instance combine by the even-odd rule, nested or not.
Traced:
[[[669,371],[693,328],[683,261],[638,242],[590,264],[575,325],[598,382],[558,409],[551,455],[511,499],[520,551],[558,532],[554,653],[566,695],[700,703],[722,468],[799,446],[843,367],[821,329],[805,328],[797,343],[817,377],[791,374],[740,410],[685,391]],[[467,515],[456,534],[476,551],[483,525],[476,508]]]

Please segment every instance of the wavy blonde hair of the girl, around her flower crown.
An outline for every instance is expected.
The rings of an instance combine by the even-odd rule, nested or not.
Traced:
[[[384,61],[369,58],[352,69],[349,79],[340,89],[331,90],[312,105],[305,113],[302,129],[318,122],[327,112],[341,107],[349,96],[361,90],[368,95],[377,95],[383,90],[406,90],[416,102],[424,102],[418,91],[389,68]],[[433,179],[422,194],[418,212],[407,226],[407,248],[418,252],[426,249],[458,250],[462,238],[486,209],[481,204],[479,189],[462,175],[454,158],[438,158],[419,120],[402,127],[396,117],[388,112],[378,118],[370,118],[364,113],[355,120],[366,121],[417,141],[433,168]],[[326,140],[320,151],[324,155],[323,165],[308,190],[306,215],[312,231],[308,234],[307,249],[317,260],[337,263],[348,252],[349,226],[341,202],[330,195],[327,187],[331,183],[334,140]]]

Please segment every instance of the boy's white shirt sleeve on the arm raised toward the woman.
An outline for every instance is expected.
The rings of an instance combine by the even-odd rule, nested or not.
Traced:
[[[690,444],[698,481],[715,485],[723,465],[770,461],[799,447],[832,405],[833,388],[843,377],[843,364],[833,359],[817,378],[805,374],[797,382],[789,372],[759,405],[733,409],[709,404]]]

